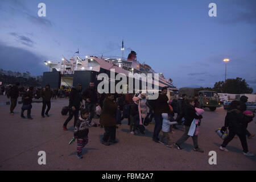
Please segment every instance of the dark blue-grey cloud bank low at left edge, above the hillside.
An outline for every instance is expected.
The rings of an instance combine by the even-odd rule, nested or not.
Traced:
[[[42,75],[47,68],[43,64],[46,57],[31,51],[0,42],[0,68],[11,71],[31,72],[31,75]]]

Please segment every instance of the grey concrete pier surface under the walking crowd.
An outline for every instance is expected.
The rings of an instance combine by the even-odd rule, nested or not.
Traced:
[[[0,102],[5,101],[9,101],[7,97],[0,96]],[[118,143],[110,146],[100,143],[104,129],[91,127],[84,158],[77,159],[76,142],[68,145],[73,137],[73,119],[68,131],[62,129],[68,116],[60,111],[67,105],[66,98],[52,100],[50,117],[42,118],[42,103],[33,103],[32,120],[20,118],[20,104],[14,115],[10,115],[10,105],[0,105],[0,170],[256,170],[256,157],[242,154],[239,138],[229,143],[229,152],[219,150],[222,139],[215,130],[224,125],[223,107],[214,112],[205,109],[199,131],[199,147],[204,153],[193,151],[191,138],[182,145],[183,150],[153,142],[154,125],[146,127],[146,135],[132,135],[124,119],[117,130]],[[170,133],[171,142],[183,135],[183,126],[178,127],[175,134]],[[255,118],[248,130],[256,133]],[[247,143],[255,155],[256,137],[247,139]],[[38,164],[39,151],[46,152],[46,165]],[[216,165],[209,164],[209,151],[216,151]]]

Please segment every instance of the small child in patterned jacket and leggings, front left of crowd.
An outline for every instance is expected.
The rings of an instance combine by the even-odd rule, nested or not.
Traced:
[[[77,158],[82,159],[82,148],[88,143],[89,110],[82,109],[81,116],[76,122],[74,137],[77,138]]]

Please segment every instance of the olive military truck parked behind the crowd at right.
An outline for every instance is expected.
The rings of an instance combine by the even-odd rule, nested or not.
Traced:
[[[187,98],[198,97],[200,108],[209,107],[211,111],[214,111],[217,107],[221,107],[217,92],[200,88],[180,88],[179,96],[181,97],[182,94],[187,94]]]

